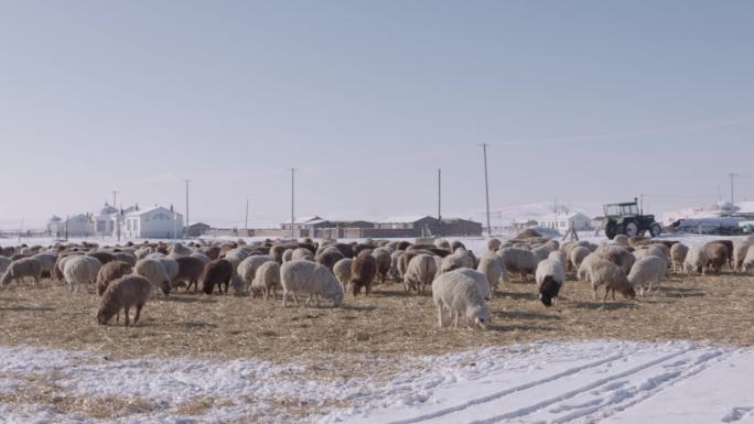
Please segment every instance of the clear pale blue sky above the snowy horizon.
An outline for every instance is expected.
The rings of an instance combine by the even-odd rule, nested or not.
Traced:
[[[493,209],[691,206],[754,176],[751,1],[1,8],[0,221],[96,210],[111,189],[183,210],[185,177],[191,220],[243,221],[250,197],[279,221],[291,166],[301,215],[434,214],[438,167],[445,215],[470,215],[481,142],[497,143]]]

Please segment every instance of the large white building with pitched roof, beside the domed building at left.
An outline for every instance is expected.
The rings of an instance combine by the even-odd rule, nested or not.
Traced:
[[[120,217],[120,236],[127,238],[170,239],[183,235],[183,215],[162,206],[133,208]]]

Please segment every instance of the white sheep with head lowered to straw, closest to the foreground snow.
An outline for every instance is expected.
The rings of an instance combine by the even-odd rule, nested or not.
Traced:
[[[480,283],[487,283],[486,278],[476,271],[473,274],[464,271],[471,270],[445,272],[432,282],[432,300],[438,308],[438,325],[444,326],[443,312],[446,309],[456,328],[461,315],[465,317],[466,326],[487,328],[491,324],[489,308],[478,290]]]

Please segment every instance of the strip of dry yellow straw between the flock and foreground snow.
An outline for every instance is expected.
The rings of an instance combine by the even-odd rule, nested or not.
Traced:
[[[584,283],[569,281],[562,295],[557,307],[545,308],[530,283],[506,284],[491,303],[494,326],[480,331],[438,328],[431,296],[408,295],[398,284],[378,286],[368,298],[346,297],[341,308],[283,308],[279,300],[181,293],[152,301],[142,320],[125,328],[122,320],[97,325],[95,295],[68,294],[45,281],[40,287],[0,292],[0,345],[85,349],[115,358],[155,354],[302,361],[331,378],[368,372],[358,356],[352,356],[353,367],[323,360],[343,352],[390,359],[594,338],[754,345],[751,276],[671,275],[648,297],[625,302],[618,295],[618,302],[604,305],[592,300]]]

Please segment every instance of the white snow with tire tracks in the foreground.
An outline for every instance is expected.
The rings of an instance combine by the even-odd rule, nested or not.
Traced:
[[[7,403],[52,382],[57,396],[115,394],[157,405],[118,423],[753,423],[754,351],[683,341],[541,343],[407,359],[388,379],[312,379],[305,366],[191,358],[111,361],[0,348],[0,423],[98,423]],[[194,415],[180,405],[218,399]],[[304,415],[286,414],[305,404]],[[122,415],[121,415],[122,416]]]

